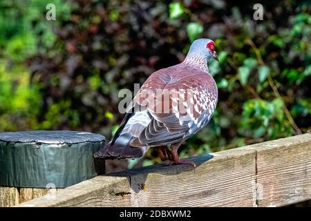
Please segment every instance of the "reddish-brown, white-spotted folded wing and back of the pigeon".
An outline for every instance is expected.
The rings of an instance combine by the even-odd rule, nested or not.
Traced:
[[[209,122],[217,88],[207,73],[173,66],[151,75],[134,101],[146,107],[152,119],[131,146],[160,146],[185,140]]]

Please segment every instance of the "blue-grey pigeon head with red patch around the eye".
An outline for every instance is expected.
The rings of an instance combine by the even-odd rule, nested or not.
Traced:
[[[211,58],[218,61],[215,51],[215,43],[211,39],[196,39],[190,46],[189,55],[205,57],[207,61]]]

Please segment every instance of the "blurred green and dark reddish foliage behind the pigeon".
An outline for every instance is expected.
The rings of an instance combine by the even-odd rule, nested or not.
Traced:
[[[48,3],[55,20],[47,19]],[[0,1],[0,132],[82,130],[110,140],[118,91],[177,64],[191,41],[214,39],[219,90],[211,122],[181,157],[222,151],[311,127],[311,3],[267,1]],[[255,16],[256,17],[256,16]],[[109,161],[120,171],[160,162]]]

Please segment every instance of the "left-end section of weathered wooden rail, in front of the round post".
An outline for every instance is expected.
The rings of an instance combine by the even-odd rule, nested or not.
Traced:
[[[126,177],[97,176],[17,206],[131,206]]]

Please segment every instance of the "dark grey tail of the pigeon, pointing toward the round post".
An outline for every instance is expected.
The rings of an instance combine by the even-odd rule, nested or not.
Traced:
[[[133,140],[133,135],[122,133],[119,137],[106,144],[104,148],[101,148],[100,151],[97,151],[94,157],[107,160],[142,157],[148,151],[148,147],[131,147],[129,145],[131,140]]]

